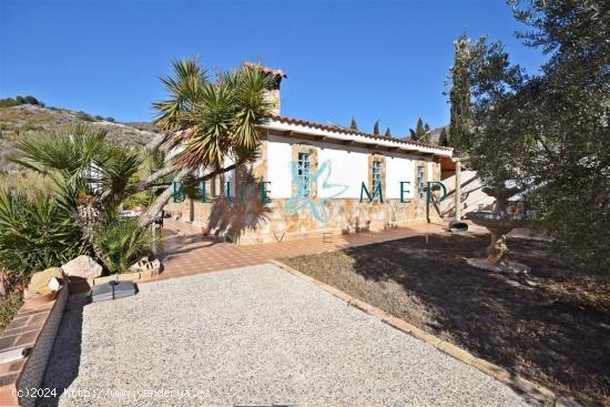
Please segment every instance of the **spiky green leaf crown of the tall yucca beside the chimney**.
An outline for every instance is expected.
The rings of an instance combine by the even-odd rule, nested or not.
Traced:
[[[257,125],[268,116],[272,103],[266,92],[273,78],[262,70],[242,67],[218,75],[215,82],[205,82],[197,92],[184,91],[179,96],[181,85],[186,81],[180,77],[166,80],[172,92],[176,111],[177,102],[187,99],[189,104],[180,105],[180,120],[174,121],[174,133],[167,139],[171,146],[177,147],[176,164],[180,167],[222,167],[225,160],[246,160],[255,156],[260,143]],[[196,99],[190,99],[190,96]],[[161,114],[169,114],[167,106],[155,105]],[[166,116],[167,118],[167,116]]]

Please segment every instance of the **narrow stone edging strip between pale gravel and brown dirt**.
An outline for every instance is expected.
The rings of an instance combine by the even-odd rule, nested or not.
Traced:
[[[437,338],[434,335],[430,335],[423,329],[419,329],[418,327],[407,323],[404,319],[397,318],[395,316],[392,316],[390,314],[386,313],[385,311],[377,308],[368,303],[365,303],[364,301],[360,301],[358,298],[353,297],[352,295],[335,288],[328,284],[322,283],[318,279],[315,279],[314,277],[311,277],[304,273],[301,273],[299,271],[282,263],[276,260],[271,260],[268,263],[282,268],[283,271],[291,273],[292,275],[299,277],[308,283],[315,284],[322,289],[324,289],[327,293],[333,294],[335,297],[343,299],[347,303],[347,305],[350,305],[355,308],[358,308],[368,315],[372,315],[378,319],[380,319],[383,323],[390,325],[392,327],[404,332],[406,334],[409,334],[414,336],[415,338],[423,340],[424,343],[434,346],[435,348],[444,352],[445,354],[458,359],[459,362],[462,362],[467,365],[470,365],[472,367],[476,367],[480,372],[494,377],[496,380],[504,383],[518,393],[525,395],[527,398],[530,398],[532,400],[536,400],[542,405],[555,405],[561,397],[557,397],[557,395],[549,390],[548,388],[540,386],[538,384],[535,384],[532,381],[529,381],[514,373],[508,372],[504,367],[494,365],[492,363],[489,363],[485,359],[478,358],[475,355],[470,354],[469,352],[450,344],[446,340],[443,340],[440,338]]]

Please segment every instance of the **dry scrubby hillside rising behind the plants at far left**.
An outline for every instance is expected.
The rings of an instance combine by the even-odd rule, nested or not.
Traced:
[[[19,169],[8,160],[9,155],[14,154],[14,140],[37,131],[79,122],[104,129],[110,140],[128,145],[144,145],[159,134],[154,125],[148,122],[116,123],[98,120],[83,112],[35,105],[0,108],[0,171]]]

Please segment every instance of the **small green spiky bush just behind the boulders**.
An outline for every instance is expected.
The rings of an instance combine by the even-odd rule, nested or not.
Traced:
[[[123,273],[142,256],[153,252],[156,237],[135,220],[114,220],[98,226],[94,245],[103,253],[110,273]]]

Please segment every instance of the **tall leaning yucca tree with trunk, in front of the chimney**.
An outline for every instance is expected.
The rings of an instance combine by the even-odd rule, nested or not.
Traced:
[[[257,126],[271,114],[267,91],[273,75],[261,65],[244,64],[210,81],[207,71],[195,60],[174,61],[173,67],[174,75],[161,79],[170,98],[153,106],[159,111],[156,124],[167,132],[164,143],[180,151],[172,164],[177,171],[174,181],[200,167],[209,173],[192,182],[206,181],[254,161],[260,143]],[[232,164],[225,165],[227,161]],[[170,186],[140,224],[152,222],[171,196]]]

